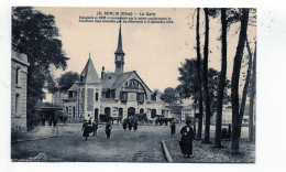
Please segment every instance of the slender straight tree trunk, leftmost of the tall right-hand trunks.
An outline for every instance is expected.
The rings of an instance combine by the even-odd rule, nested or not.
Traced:
[[[200,79],[200,40],[199,40],[199,8],[197,8],[197,68],[198,68],[198,88],[199,88],[199,123],[198,123],[198,133],[197,139],[201,139],[202,131],[202,93],[201,93],[201,79]]]

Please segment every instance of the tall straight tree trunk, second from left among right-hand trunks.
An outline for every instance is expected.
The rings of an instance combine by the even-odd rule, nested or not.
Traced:
[[[209,9],[205,8],[206,33],[204,47],[204,90],[206,105],[206,126],[205,126],[205,142],[209,142],[210,133],[210,98],[209,98],[209,82],[208,82],[208,61],[209,61]]]

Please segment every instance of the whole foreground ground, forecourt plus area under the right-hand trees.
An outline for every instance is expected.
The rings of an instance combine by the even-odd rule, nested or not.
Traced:
[[[81,137],[79,123],[59,126],[57,137],[54,129],[40,127],[34,133],[12,136],[11,158],[12,161],[42,159],[64,162],[166,162],[161,147],[161,140],[164,140],[174,162],[241,162],[241,159],[245,162],[254,161],[254,143],[251,143],[252,147],[242,143],[242,147],[250,149],[248,152],[252,151],[250,158],[249,153],[248,159],[233,159],[227,152],[230,141],[224,141],[227,147],[221,150],[213,150],[211,146],[195,141],[194,158],[184,159],[178,147],[183,126],[177,126],[175,137],[169,135],[169,126],[139,126],[138,131],[124,131],[121,125],[112,127],[111,139],[106,139],[105,126],[100,125],[98,135],[89,137],[87,141]],[[246,137],[246,133],[243,129],[242,137]],[[43,137],[45,139],[38,139]]]

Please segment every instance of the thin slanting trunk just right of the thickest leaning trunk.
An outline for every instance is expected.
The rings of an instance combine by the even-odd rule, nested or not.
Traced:
[[[243,119],[244,109],[245,109],[245,101],[246,101],[246,96],[248,96],[248,92],[249,92],[250,76],[251,76],[251,68],[252,68],[252,53],[251,53],[250,43],[249,43],[248,37],[246,37],[246,47],[249,51],[249,67],[248,67],[245,84],[243,87],[242,100],[241,100],[241,105],[240,105],[240,132],[239,132],[240,138],[241,138],[241,127],[242,127],[241,125],[242,125],[242,119]]]

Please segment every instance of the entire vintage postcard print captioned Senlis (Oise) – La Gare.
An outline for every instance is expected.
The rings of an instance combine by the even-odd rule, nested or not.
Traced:
[[[255,8],[11,8],[11,161],[255,163]]]

